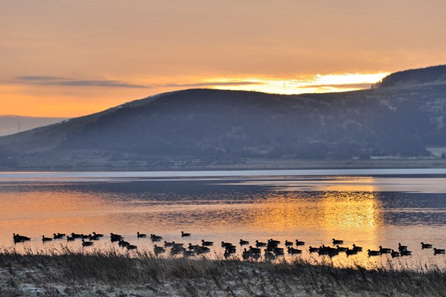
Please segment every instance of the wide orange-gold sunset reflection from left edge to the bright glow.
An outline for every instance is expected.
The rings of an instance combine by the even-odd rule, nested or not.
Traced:
[[[379,245],[396,247],[398,241],[391,234],[400,232],[384,224],[384,206],[372,185],[362,187],[363,191],[351,191],[351,186],[344,188],[343,184],[333,185],[333,191],[247,190],[222,194],[216,190],[212,194],[176,194],[171,199],[166,198],[171,194],[165,193],[152,196],[132,191],[81,191],[82,186],[64,189],[63,184],[56,189],[37,186],[0,191],[0,247],[11,246],[12,233],[19,232],[33,237],[33,241],[18,247],[40,250],[66,244],[81,249],[79,242],[42,244],[40,238],[53,232],[96,231],[105,235],[117,232],[139,248],[153,250],[149,240],[136,238],[139,230],[186,244],[198,244],[202,238],[215,242],[238,242],[241,237],[251,242],[270,237],[282,242],[299,239],[306,242],[299,257],[319,260],[324,257],[309,254],[309,245],[331,245],[334,237],[344,240],[345,247],[355,243],[365,251]],[[183,229],[195,237],[183,241],[178,237]],[[96,248],[100,245],[115,247],[107,239],[95,243]],[[215,250],[222,252],[218,246]],[[387,259],[387,255],[369,258],[362,252],[353,257],[340,254],[332,261],[339,265],[374,264]]]

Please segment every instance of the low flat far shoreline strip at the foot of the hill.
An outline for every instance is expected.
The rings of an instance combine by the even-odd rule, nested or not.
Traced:
[[[88,162],[70,164],[55,160],[53,164],[21,162],[16,167],[0,166],[8,172],[115,172],[115,171],[208,171],[208,170],[311,170],[311,169],[439,169],[446,168],[446,159],[241,159],[234,162],[207,163],[200,160],[154,162],[132,160],[131,162]],[[161,164],[160,164],[161,163]]]

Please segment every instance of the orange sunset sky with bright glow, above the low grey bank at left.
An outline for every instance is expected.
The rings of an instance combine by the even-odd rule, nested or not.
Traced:
[[[446,64],[444,0],[1,0],[0,115],[165,91],[367,89]]]

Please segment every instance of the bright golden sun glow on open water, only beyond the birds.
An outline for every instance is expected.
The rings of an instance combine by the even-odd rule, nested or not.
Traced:
[[[374,230],[382,224],[382,206],[369,192],[326,192],[316,196],[282,194],[253,209],[263,230],[319,228],[326,231]],[[303,194],[302,194],[303,195]]]

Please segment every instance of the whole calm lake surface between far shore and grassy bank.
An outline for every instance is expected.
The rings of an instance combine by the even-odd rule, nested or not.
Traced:
[[[420,245],[446,247],[445,173],[444,169],[4,172],[0,173],[0,247],[82,250],[79,240],[42,243],[41,237],[96,231],[124,235],[139,250],[152,251],[153,243],[137,238],[139,231],[185,245],[214,241],[209,257],[222,257],[218,244],[222,240],[237,244],[243,238],[253,244],[269,238],[299,239],[306,242],[299,257],[320,262],[324,257],[309,254],[309,245],[331,245],[337,238],[345,241],[345,247],[355,243],[364,250],[377,250],[379,245],[397,250],[401,242],[413,256],[340,254],[330,259],[336,265],[370,267],[391,261],[396,266],[446,267],[444,255],[433,256],[432,250]],[[182,238],[181,230],[192,236]],[[14,232],[32,240],[14,245]],[[110,248],[119,250],[103,239],[90,249]]]

